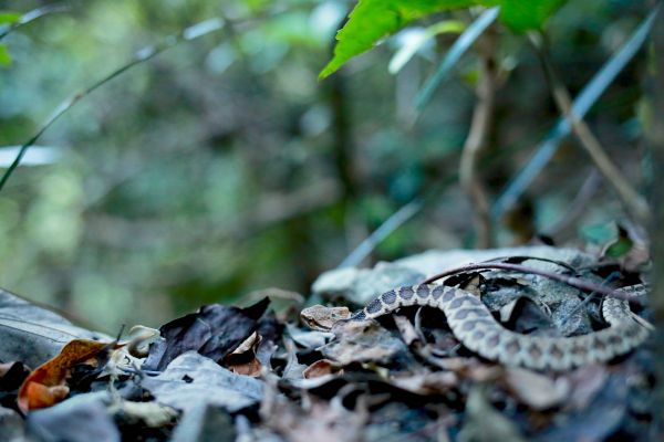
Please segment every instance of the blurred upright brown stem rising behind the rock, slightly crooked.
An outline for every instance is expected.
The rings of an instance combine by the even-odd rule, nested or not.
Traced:
[[[494,120],[496,95],[496,72],[494,66],[494,52],[496,38],[488,32],[479,42],[479,81],[477,83],[477,103],[473,112],[473,122],[468,137],[464,144],[461,164],[459,166],[459,180],[461,187],[470,198],[475,211],[475,229],[477,231],[477,246],[488,249],[491,246],[491,219],[489,215],[489,199],[477,172],[477,164],[481,151],[487,145],[488,134]]]

